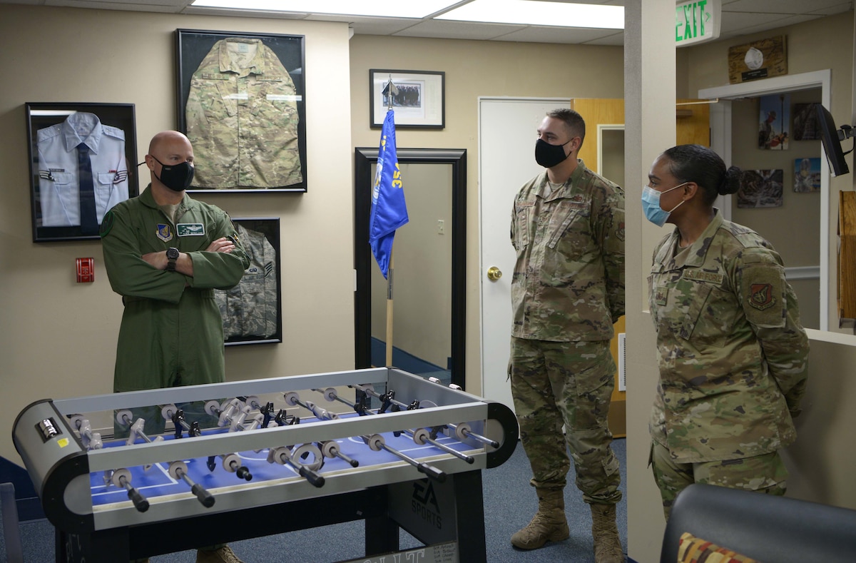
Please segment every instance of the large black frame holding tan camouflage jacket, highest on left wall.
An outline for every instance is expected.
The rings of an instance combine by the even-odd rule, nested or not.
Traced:
[[[195,164],[189,192],[306,192],[304,47],[303,35],[175,30],[176,121]]]

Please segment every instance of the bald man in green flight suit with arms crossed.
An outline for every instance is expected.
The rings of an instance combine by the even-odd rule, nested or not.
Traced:
[[[229,216],[185,193],[193,181],[193,146],[184,134],[155,135],[146,165],[152,183],[101,223],[107,276],[125,305],[114,391],[223,382],[223,319],[214,288],[234,287],[249,259]],[[179,406],[188,422],[211,418],[194,405]],[[163,432],[158,406],[134,409],[138,417],[146,420],[146,434]],[[240,563],[223,545],[200,549],[197,561]]]

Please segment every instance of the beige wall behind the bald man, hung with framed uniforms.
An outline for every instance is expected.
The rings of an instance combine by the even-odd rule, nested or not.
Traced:
[[[229,347],[227,378],[354,367],[351,107],[348,88],[342,88],[348,84],[348,27],[3,4],[0,455],[16,463],[10,435],[24,406],[112,391],[122,315],[98,241],[32,242],[24,104],[135,104],[140,162],[152,135],[176,125],[176,28],[306,36],[308,193],[199,198],[235,217],[281,217],[284,342]],[[95,258],[94,283],[74,283],[77,257]]]

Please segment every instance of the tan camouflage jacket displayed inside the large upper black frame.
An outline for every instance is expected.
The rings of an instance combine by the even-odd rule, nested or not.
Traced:
[[[217,41],[191,77],[185,111],[196,157],[194,187],[302,181],[294,82],[261,40]]]

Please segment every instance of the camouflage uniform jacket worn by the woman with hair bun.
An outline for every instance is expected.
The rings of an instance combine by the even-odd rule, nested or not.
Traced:
[[[663,239],[649,277],[660,367],[652,438],[678,463],[787,446],[809,345],[782,258],[718,211],[691,246],[679,240],[677,229]]]

